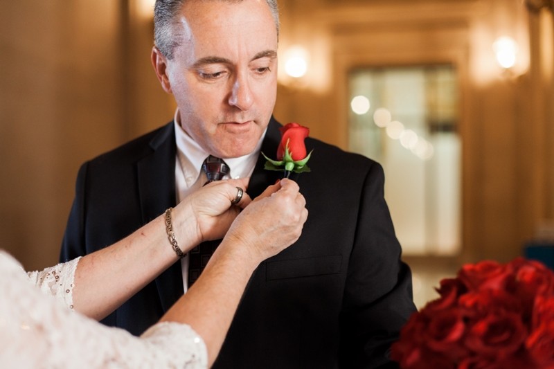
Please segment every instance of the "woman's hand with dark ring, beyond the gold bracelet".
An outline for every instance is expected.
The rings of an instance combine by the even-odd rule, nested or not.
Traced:
[[[173,210],[177,240],[194,237],[193,246],[208,240],[223,238],[240,210],[252,201],[246,193],[248,178],[215,181],[188,195]],[[242,188],[238,204],[231,201]],[[181,237],[179,237],[181,235]]]

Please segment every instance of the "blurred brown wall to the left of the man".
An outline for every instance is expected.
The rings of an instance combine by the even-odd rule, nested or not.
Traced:
[[[79,165],[172,118],[126,1],[0,3],[0,248],[55,264]]]

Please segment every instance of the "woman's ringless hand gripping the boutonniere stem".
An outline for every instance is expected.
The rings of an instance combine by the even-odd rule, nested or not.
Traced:
[[[225,240],[246,245],[242,249],[261,262],[298,240],[307,219],[305,204],[298,184],[282,179],[242,210]]]

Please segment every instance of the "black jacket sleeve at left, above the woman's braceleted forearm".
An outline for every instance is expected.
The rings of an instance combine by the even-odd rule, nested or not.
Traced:
[[[77,175],[75,199],[73,199],[73,205],[71,206],[71,212],[69,213],[69,219],[65,228],[60,262],[67,262],[87,254],[84,239],[84,196],[85,183],[87,182],[87,168],[88,163],[84,163]]]

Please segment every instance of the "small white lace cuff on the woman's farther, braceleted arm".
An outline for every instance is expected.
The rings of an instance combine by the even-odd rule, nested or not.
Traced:
[[[39,287],[45,294],[54,296],[66,307],[73,309],[73,280],[75,280],[75,270],[79,260],[80,257],[43,271],[30,271],[27,273],[29,282]]]

